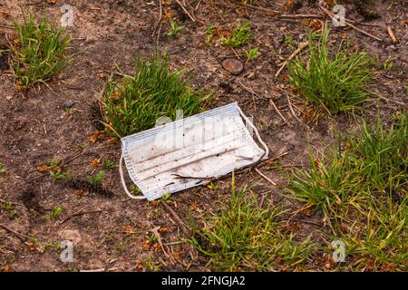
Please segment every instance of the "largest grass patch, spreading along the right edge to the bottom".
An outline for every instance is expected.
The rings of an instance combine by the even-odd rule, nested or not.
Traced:
[[[380,118],[374,128],[364,122],[331,157],[310,157],[310,171],[299,170],[290,179],[292,198],[323,211],[356,269],[406,266],[407,140],[407,114],[398,115],[388,130]]]

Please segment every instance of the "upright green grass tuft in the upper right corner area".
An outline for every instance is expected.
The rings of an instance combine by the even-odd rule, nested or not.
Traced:
[[[318,43],[309,34],[307,61],[300,56],[288,64],[290,82],[307,102],[319,105],[329,114],[357,109],[370,95],[371,59],[367,53],[353,53],[350,45],[341,43],[329,52],[325,27]]]

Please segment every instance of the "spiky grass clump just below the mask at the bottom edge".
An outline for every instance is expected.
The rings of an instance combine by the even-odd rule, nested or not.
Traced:
[[[293,268],[311,251],[309,239],[296,242],[279,221],[281,208],[259,208],[249,189],[236,191],[219,213],[207,218],[189,241],[217,270],[267,271]]]

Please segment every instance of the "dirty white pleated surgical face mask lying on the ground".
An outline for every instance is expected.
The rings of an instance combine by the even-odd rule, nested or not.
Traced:
[[[121,144],[121,160],[144,197],[131,195],[120,164],[123,189],[131,198],[148,200],[209,183],[269,153],[236,102],[124,137]]]

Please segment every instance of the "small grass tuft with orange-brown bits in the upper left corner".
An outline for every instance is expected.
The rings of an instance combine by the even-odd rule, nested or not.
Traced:
[[[46,16],[38,23],[30,13],[23,24],[15,23],[15,30],[17,38],[10,47],[11,66],[22,89],[51,80],[70,63],[71,57],[65,55],[70,37]]]

